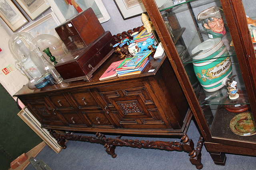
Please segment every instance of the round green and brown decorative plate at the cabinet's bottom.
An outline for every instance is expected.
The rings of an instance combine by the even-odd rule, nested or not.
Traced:
[[[236,115],[231,119],[229,127],[236,135],[252,136],[256,134],[252,112],[244,112]]]

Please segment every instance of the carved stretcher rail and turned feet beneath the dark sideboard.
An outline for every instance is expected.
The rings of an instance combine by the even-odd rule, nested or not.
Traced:
[[[185,151],[189,153],[190,162],[196,166],[198,169],[202,169],[203,165],[201,164],[201,149],[204,143],[204,140],[200,136],[199,141],[197,143],[196,150],[194,149],[194,143],[191,139],[188,139],[187,135],[184,135],[180,142],[172,142],[172,141],[144,141],[144,140],[132,140],[132,139],[121,139],[120,136],[116,138],[107,138],[102,133],[96,133],[96,136],[86,136],[86,135],[76,135],[73,133],[56,133],[52,129],[48,129],[50,134],[57,139],[59,145],[61,145],[64,149],[66,149],[65,141],[82,141],[82,142],[90,142],[90,143],[99,143],[104,145],[106,148],[106,152],[112,156],[112,158],[116,157],[115,148],[116,146],[125,146],[125,147],[133,147],[133,148],[144,148],[144,149],[160,149],[167,151]]]

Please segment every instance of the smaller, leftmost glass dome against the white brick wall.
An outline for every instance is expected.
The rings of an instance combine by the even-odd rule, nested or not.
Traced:
[[[14,33],[9,39],[9,49],[16,60],[24,62],[30,52],[29,46],[33,37],[29,33]]]

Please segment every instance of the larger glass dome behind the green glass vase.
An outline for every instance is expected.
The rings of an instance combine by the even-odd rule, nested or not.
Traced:
[[[50,34],[41,34],[32,39],[32,46],[30,46],[30,51],[33,51],[36,47],[39,47],[40,51],[43,51],[49,47],[50,52],[55,57],[57,62],[66,55],[66,49],[63,49],[62,41]],[[49,63],[53,64],[45,53],[43,53],[43,55]]]

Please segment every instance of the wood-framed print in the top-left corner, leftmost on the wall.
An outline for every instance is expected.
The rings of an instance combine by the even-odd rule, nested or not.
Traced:
[[[0,0],[0,17],[12,31],[16,31],[28,22],[11,0]]]

